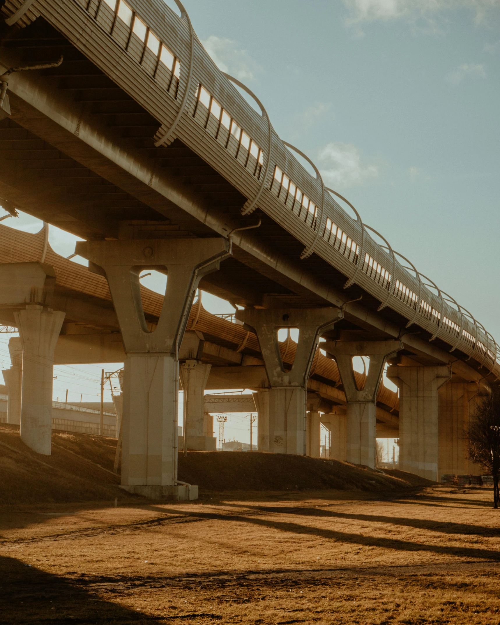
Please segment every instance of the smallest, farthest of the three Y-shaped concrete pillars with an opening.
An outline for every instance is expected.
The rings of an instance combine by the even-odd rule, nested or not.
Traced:
[[[387,357],[402,349],[400,341],[332,341],[321,345],[337,362],[347,399],[346,460],[375,467],[376,397]],[[356,385],[352,358],[370,359],[362,389]]]

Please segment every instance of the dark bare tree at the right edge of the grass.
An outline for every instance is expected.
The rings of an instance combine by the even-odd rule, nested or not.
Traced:
[[[494,387],[474,412],[464,432],[469,459],[489,469],[493,477],[493,507],[500,503],[500,388]]]

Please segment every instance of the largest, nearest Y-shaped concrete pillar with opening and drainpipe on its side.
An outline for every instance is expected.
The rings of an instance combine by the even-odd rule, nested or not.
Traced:
[[[124,227],[121,232],[136,232]],[[123,389],[122,487],[154,499],[196,499],[197,487],[179,484],[179,347],[199,281],[219,269],[224,239],[126,239],[79,242],[89,268],[106,275],[127,359]],[[139,274],[168,273],[158,326],[144,317]],[[202,414],[202,409],[201,409]]]

